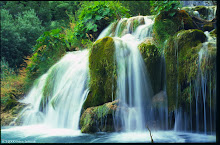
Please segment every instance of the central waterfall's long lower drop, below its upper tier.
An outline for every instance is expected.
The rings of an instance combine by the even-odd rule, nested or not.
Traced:
[[[143,131],[145,129],[145,115],[143,99],[148,97],[150,102],[150,87],[146,78],[145,64],[137,48],[138,43],[130,34],[122,38],[115,38],[117,61],[117,97],[119,106],[127,111],[120,112],[123,131]]]

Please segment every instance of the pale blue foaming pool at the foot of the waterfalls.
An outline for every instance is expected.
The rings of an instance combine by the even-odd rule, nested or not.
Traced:
[[[202,133],[152,131],[155,143],[207,143],[216,142],[216,135]],[[1,127],[1,143],[150,143],[146,132],[81,133],[63,128],[49,128],[43,125]]]

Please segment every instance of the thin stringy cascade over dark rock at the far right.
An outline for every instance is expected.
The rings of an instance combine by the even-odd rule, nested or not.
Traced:
[[[193,122],[195,124],[195,128],[193,130],[195,130],[196,132],[204,132],[205,134],[207,134],[207,130],[209,129],[212,134],[213,129],[215,129],[215,127],[212,126],[212,122],[215,122],[215,118],[212,117],[213,112],[215,115],[215,111],[212,111],[212,103],[214,101],[213,97],[215,97],[215,94],[212,93],[212,91],[215,91],[215,87],[212,86],[212,82],[215,78],[215,72],[208,71],[205,65],[208,65],[207,63],[212,59],[211,55],[209,55],[209,51],[212,50],[209,50],[209,47],[216,47],[216,40],[214,39],[214,37],[210,36],[210,32],[208,31],[205,32],[205,35],[207,37],[207,41],[203,43],[200,51],[198,52],[197,76],[196,79],[192,82],[193,85],[190,82],[190,112],[188,115],[186,113],[186,110],[182,110],[181,108],[176,109],[174,125],[175,131],[187,131],[187,128],[189,128],[188,126],[190,126],[192,131]],[[213,75],[213,77],[211,77],[211,75]],[[213,85],[215,86],[214,83]],[[193,90],[191,90],[191,86],[193,86]],[[191,95],[193,94],[191,93],[191,91],[194,91],[195,104],[192,104],[193,98],[191,97]],[[207,110],[208,101],[210,104],[209,112]],[[192,105],[195,105],[195,118],[192,117]],[[209,113],[209,120],[207,113]],[[209,121],[210,124],[209,128],[207,126],[207,121]]]

